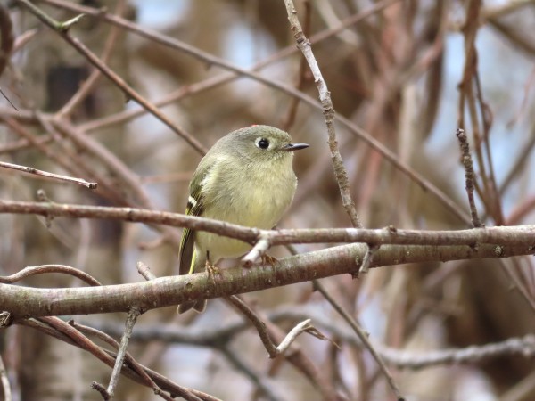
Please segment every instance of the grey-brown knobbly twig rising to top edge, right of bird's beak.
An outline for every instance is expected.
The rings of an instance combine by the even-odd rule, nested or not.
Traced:
[[[350,194],[350,183],[348,179],[348,173],[343,166],[342,155],[338,150],[338,142],[336,140],[336,131],[334,130],[334,108],[333,101],[331,100],[331,94],[325,83],[325,79],[319,70],[317,65],[316,58],[314,53],[312,53],[312,48],[310,47],[310,42],[300,26],[299,19],[297,18],[297,12],[295,11],[295,5],[292,0],[284,0],[286,5],[286,12],[288,13],[288,20],[290,20],[290,27],[293,31],[293,37],[297,42],[297,47],[299,47],[301,53],[305,56],[305,59],[309,63],[309,68],[312,71],[314,76],[314,81],[317,85],[317,90],[319,92],[319,100],[323,107],[323,112],[325,116],[325,125],[327,126],[327,133],[329,137],[329,149],[331,151],[331,160],[333,160],[333,169],[334,176],[336,176],[336,182],[340,188],[340,194],[342,195],[342,203],[344,209],[348,213],[351,224],[354,227],[362,227],[360,220],[357,215],[357,209],[355,209],[355,202],[351,199]]]

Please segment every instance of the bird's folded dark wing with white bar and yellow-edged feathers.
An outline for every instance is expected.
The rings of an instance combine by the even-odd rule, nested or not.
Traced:
[[[190,195],[187,200],[185,214],[187,216],[202,216],[204,211],[204,196],[202,194],[202,180],[208,174],[210,168],[197,168],[193,174],[192,184],[190,184]],[[192,190],[193,189],[193,190]],[[193,273],[195,266],[195,232],[189,228],[182,231],[182,240],[180,241],[180,269],[179,274]]]

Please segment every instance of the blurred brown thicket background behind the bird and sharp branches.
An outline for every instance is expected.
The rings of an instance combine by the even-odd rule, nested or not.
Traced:
[[[17,4],[4,5],[14,43],[0,80],[12,103],[0,99],[0,160],[80,176],[98,182],[99,189],[2,169],[1,198],[35,201],[43,189],[59,203],[183,212],[202,154],[107,78],[97,78],[80,95],[94,67]],[[77,4],[88,8],[78,10]],[[239,68],[261,66],[262,77],[317,99],[283,1],[46,0],[37,5],[57,20],[105,7],[136,23],[141,33],[157,31]],[[383,143],[468,216],[455,135],[463,127],[473,150],[476,204],[484,224],[533,223],[535,2],[297,0],[295,5],[338,115]],[[366,18],[340,28],[365,12]],[[350,226],[333,176],[321,108],[93,16],[76,24],[70,35],[207,149],[222,135],[251,124],[280,127],[295,142],[310,143],[309,150],[295,156],[298,191],[279,226]],[[336,128],[365,227],[468,227],[350,129]],[[34,216],[0,217],[0,275],[62,264],[104,284],[140,282],[140,260],[158,276],[177,274],[179,230],[84,219],[49,223]],[[326,246],[296,248],[304,253]],[[272,251],[277,257],[289,255],[284,249]],[[409,358],[533,333],[534,282],[531,258],[390,266],[358,280],[349,275],[323,280],[372,340],[401,349]],[[21,284],[85,285],[60,274]],[[282,331],[309,316],[333,339],[337,346],[307,335],[298,340],[321,382],[288,360],[268,359],[248,326],[202,347],[187,336],[166,340],[158,335],[171,330],[210,336],[241,322],[220,299],[210,301],[202,315],[177,315],[175,307],[142,315],[130,352],[170,380],[225,400],[394,399],[373,358],[310,283],[245,294],[244,299]],[[125,316],[74,318],[117,336]],[[146,335],[136,337],[142,332]],[[14,399],[97,399],[89,384],[107,383],[111,372],[94,356],[17,325],[0,332],[0,351]],[[407,400],[535,399],[533,361],[522,356],[419,370],[391,366],[391,371]],[[116,399],[160,398],[121,378]]]

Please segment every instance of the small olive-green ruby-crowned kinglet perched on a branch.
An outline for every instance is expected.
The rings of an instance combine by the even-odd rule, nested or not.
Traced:
[[[269,126],[251,126],[223,136],[202,158],[189,186],[186,215],[271,229],[292,203],[297,187],[293,151],[309,147]],[[180,274],[203,272],[220,258],[236,258],[251,245],[215,233],[185,228]],[[206,300],[186,301],[178,313],[202,312]]]

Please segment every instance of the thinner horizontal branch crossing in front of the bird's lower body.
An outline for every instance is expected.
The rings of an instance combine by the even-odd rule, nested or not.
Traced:
[[[535,245],[535,225],[485,227],[454,231],[384,229],[317,228],[259,230],[204,217],[186,216],[151,209],[112,208],[62,204],[54,202],[0,201],[0,214],[28,214],[44,217],[97,218],[150,225],[187,227],[195,231],[218,233],[241,241],[256,243],[268,238],[272,245],[289,243],[364,242],[375,245],[430,245],[476,247],[478,244],[524,246],[529,254]],[[501,252],[500,252],[501,253]],[[505,256],[505,255],[503,255]],[[360,259],[362,260],[362,259]]]

